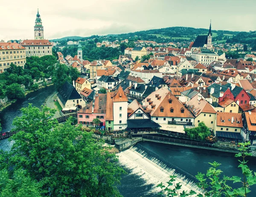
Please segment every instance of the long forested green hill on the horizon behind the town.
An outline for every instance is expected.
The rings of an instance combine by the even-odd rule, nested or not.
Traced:
[[[162,29],[151,29],[145,31],[136,31],[126,34],[108,34],[106,36],[100,37],[107,37],[109,40],[116,38],[116,39],[129,39],[137,37],[137,40],[154,40],[158,43],[161,42],[171,42],[177,40],[187,40],[191,41],[194,40],[196,36],[200,34],[207,34],[209,29],[196,29],[192,27],[168,27]],[[212,41],[222,40],[226,41],[227,39],[232,38],[236,34],[239,34],[239,31],[226,31],[226,30],[212,30]],[[93,36],[91,36],[93,38]],[[52,41],[58,40],[86,40],[90,39],[90,37],[65,37],[61,39],[55,39]]]

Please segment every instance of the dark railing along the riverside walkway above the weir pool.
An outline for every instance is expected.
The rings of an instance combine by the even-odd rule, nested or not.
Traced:
[[[213,146],[210,143],[178,140],[178,139],[171,139],[171,138],[166,138],[166,137],[157,137],[157,136],[152,136],[152,135],[142,135],[142,138],[149,139],[149,140],[156,140],[156,141],[165,141],[165,142],[172,142],[172,143],[179,143],[179,144],[194,145],[194,146],[211,146],[211,147]]]

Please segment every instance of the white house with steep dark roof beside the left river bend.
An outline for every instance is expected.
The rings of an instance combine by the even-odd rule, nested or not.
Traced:
[[[85,106],[85,101],[81,98],[75,87],[67,81],[63,84],[61,90],[58,91],[57,97],[62,108],[82,108]]]

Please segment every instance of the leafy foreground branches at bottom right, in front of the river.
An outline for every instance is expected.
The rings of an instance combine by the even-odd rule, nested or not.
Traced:
[[[201,189],[201,194],[196,193],[195,191],[181,191],[181,183],[176,182],[176,176],[170,176],[170,180],[165,184],[160,183],[157,187],[161,188],[159,196],[170,197],[188,197],[194,195],[196,197],[247,197],[250,192],[250,186],[256,184],[256,173],[250,170],[247,166],[247,161],[245,157],[251,156],[251,153],[248,152],[248,146],[250,142],[239,143],[239,153],[235,157],[242,157],[242,160],[239,161],[239,168],[241,168],[242,176],[233,176],[227,177],[223,176],[223,171],[218,169],[221,165],[220,163],[213,162],[209,163],[211,167],[207,170],[206,174],[198,172],[196,178],[198,179],[197,186]],[[207,179],[209,180],[207,182]],[[232,183],[241,183],[241,187],[233,188]],[[230,185],[231,184],[231,185]]]

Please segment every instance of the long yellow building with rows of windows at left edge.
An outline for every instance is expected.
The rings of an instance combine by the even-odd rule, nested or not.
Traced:
[[[18,43],[0,43],[0,73],[11,65],[22,66],[26,63],[26,50]]]

